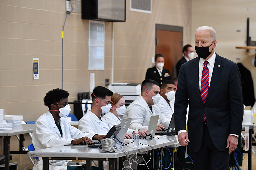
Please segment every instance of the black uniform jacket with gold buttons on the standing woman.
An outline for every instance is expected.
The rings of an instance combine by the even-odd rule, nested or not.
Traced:
[[[161,87],[162,83],[165,80],[171,80],[171,73],[169,70],[163,68],[162,76],[160,77],[155,66],[147,70],[145,80],[147,79],[155,80],[156,82],[158,82],[159,86]]]

